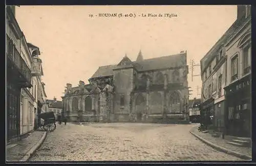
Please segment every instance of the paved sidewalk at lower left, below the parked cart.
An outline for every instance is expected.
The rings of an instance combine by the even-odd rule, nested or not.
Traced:
[[[6,161],[27,161],[45,140],[46,134],[46,131],[34,131],[16,144],[6,146]]]

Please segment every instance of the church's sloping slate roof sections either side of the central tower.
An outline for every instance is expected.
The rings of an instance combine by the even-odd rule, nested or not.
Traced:
[[[159,58],[145,59],[143,61],[134,61],[132,63],[134,68],[138,71],[148,71],[187,65],[186,53],[179,53]],[[100,66],[98,70],[92,75],[92,78],[111,76],[113,75],[113,69],[116,69],[117,67],[117,65]]]

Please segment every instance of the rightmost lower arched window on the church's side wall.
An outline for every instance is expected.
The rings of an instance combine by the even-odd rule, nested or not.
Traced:
[[[174,92],[171,94],[169,98],[169,113],[181,113],[181,102],[179,93]]]

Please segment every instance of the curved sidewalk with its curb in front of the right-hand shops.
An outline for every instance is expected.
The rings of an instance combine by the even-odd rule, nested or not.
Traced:
[[[228,140],[222,139],[221,137],[213,137],[209,133],[203,133],[198,131],[198,126],[193,127],[190,130],[190,133],[196,136],[199,140],[201,140],[205,144],[213,148],[216,148],[220,151],[223,151],[225,153],[228,153],[246,160],[250,160],[252,158],[251,148],[232,146],[227,143],[229,142]]]

